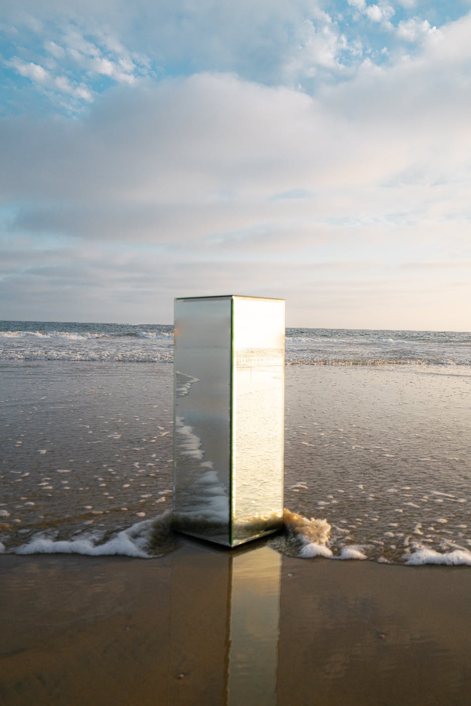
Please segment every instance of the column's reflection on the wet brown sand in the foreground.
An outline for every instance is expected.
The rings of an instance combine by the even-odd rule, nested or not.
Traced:
[[[278,552],[188,544],[172,556],[170,685],[175,706],[273,704]]]

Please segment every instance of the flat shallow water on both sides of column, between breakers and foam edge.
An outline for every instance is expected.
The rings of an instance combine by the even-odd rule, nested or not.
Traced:
[[[335,555],[352,544],[393,563],[417,545],[469,554],[463,370],[287,366],[285,508],[325,517]],[[38,533],[102,544],[172,507],[171,365],[0,361],[0,388],[6,551]]]

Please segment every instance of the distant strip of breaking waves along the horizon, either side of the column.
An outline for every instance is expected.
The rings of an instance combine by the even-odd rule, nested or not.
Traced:
[[[173,325],[0,321],[0,360],[171,362]],[[288,328],[288,365],[471,366],[471,333]]]

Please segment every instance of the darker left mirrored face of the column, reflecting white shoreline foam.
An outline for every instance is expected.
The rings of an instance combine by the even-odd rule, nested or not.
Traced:
[[[230,544],[231,298],[175,300],[175,529]]]

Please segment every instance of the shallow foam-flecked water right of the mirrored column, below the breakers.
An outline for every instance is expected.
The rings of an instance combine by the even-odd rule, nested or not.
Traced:
[[[469,374],[299,367],[286,429],[285,505],[326,517],[334,554],[402,563],[471,550]]]

